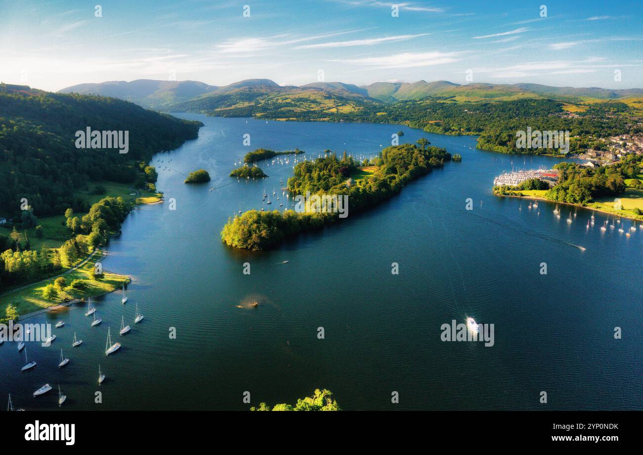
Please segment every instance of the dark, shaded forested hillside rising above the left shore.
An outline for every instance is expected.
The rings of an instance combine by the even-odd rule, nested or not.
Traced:
[[[146,187],[138,162],[196,138],[199,122],[147,111],[115,98],[63,95],[0,85],[0,218],[80,211],[75,190],[109,180]],[[129,131],[129,152],[77,149],[76,131]],[[87,207],[85,207],[87,209]]]

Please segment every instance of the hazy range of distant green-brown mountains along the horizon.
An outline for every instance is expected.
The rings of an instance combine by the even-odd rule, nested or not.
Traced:
[[[103,95],[121,98],[150,109],[165,111],[205,112],[225,111],[239,115],[253,112],[259,104],[270,100],[270,111],[275,107],[284,111],[323,111],[330,109],[354,110],[360,104],[421,100],[435,97],[453,101],[509,101],[520,98],[554,98],[566,102],[586,98],[615,100],[623,97],[641,97],[643,89],[603,89],[552,87],[541,84],[488,84],[471,82],[455,84],[448,80],[426,82],[375,82],[358,87],[344,82],[312,82],[303,86],[280,86],[270,79],[246,79],[227,86],[210,86],[193,80],[165,81],[139,79],[131,82],[112,81],[100,84],[80,84],[60,90],[62,93]],[[287,96],[290,95],[290,96]],[[346,107],[349,106],[350,107]]]

